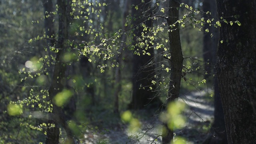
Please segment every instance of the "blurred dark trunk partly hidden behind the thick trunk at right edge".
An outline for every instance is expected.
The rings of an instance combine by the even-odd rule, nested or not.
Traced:
[[[203,11],[204,12],[211,12],[204,16],[204,18],[212,19],[217,16],[217,9],[216,9],[216,1],[215,0],[205,0],[203,1]],[[216,18],[215,18],[216,19]],[[214,24],[216,21],[213,22]],[[227,136],[226,136],[226,127],[225,127],[225,120],[224,120],[224,112],[222,108],[222,102],[220,99],[220,93],[218,90],[218,81],[217,76],[212,77],[213,74],[216,73],[216,69],[214,69],[214,65],[216,65],[216,53],[218,47],[218,39],[219,39],[219,32],[218,28],[214,27],[213,25],[210,26],[209,24],[205,24],[204,31],[209,29],[209,32],[204,34],[204,46],[203,46],[203,58],[206,62],[205,64],[205,74],[206,80],[208,84],[214,84],[214,122],[212,124],[212,130],[214,130],[214,135],[210,136],[210,142],[215,142],[218,144],[226,144],[227,143]],[[210,34],[213,34],[211,37]]]

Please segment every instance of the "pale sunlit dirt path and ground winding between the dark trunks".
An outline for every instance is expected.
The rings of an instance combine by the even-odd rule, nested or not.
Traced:
[[[185,138],[186,144],[201,143],[206,138],[210,122],[213,119],[213,100],[206,92],[190,92],[182,94],[179,101],[183,101],[187,105],[184,110],[187,121],[183,129],[176,130],[176,136]],[[130,133],[128,125],[116,124],[116,127],[105,130],[104,133],[85,134],[84,144],[160,144],[161,140],[158,136],[161,134],[162,128],[158,116],[140,120],[140,123],[142,130],[138,133]],[[174,136],[174,140],[177,138],[176,136]]]

